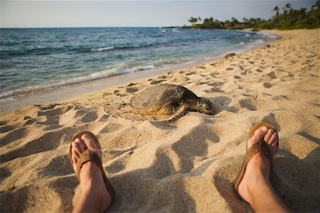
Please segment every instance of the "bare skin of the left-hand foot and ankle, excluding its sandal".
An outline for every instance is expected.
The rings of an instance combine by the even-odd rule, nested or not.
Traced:
[[[80,154],[87,148],[97,153],[101,158],[100,150],[90,136],[85,134],[81,139],[75,138],[71,148],[73,169],[75,171]],[[80,180],[82,194],[74,212],[103,212],[110,207],[112,202],[110,192],[107,191],[101,170],[95,163],[89,161],[82,165]]]

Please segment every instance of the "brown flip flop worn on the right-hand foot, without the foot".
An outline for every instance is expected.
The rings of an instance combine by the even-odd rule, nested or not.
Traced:
[[[250,133],[247,136],[247,141],[252,138],[252,136],[255,134],[255,131],[257,129],[259,129],[262,126],[266,126],[268,129],[273,129],[275,132],[277,132],[277,130],[274,128],[274,126],[272,126],[272,124],[266,123],[266,122],[261,122],[257,125],[255,125]],[[279,140],[279,138],[278,138]],[[249,163],[250,159],[252,158],[253,155],[255,155],[255,153],[262,153],[264,155],[267,156],[269,163],[270,163],[270,173],[273,167],[273,158],[272,158],[272,153],[270,151],[269,146],[267,145],[267,143],[265,142],[265,140],[262,138],[258,143],[255,143],[252,147],[250,147],[250,149],[247,149],[247,146],[245,148],[246,150],[246,154],[245,154],[245,161],[242,164],[242,168],[240,170],[240,173],[238,174],[237,178],[235,179],[235,183],[233,185],[234,189],[235,189],[235,194],[240,197],[241,200],[244,200],[241,195],[239,195],[238,192],[238,187],[240,185],[240,182],[243,178],[243,176],[245,175],[245,170],[247,168],[247,164]]]

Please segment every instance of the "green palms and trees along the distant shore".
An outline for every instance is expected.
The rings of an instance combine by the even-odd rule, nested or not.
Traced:
[[[214,29],[244,29],[252,28],[254,30],[260,29],[299,29],[299,28],[320,28],[320,0],[316,1],[311,9],[302,8],[299,10],[292,9],[291,4],[286,4],[282,8],[282,13],[278,6],[274,6],[272,9],[274,16],[269,20],[261,18],[242,18],[242,22],[237,18],[231,18],[227,21],[219,21],[217,19],[205,18],[203,23],[197,23],[201,21],[201,18],[191,17],[188,21],[191,26],[188,28],[214,28]]]

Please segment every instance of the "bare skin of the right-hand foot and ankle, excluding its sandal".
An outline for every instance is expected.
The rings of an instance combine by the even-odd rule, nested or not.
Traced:
[[[254,136],[247,141],[247,148],[249,149],[252,145],[258,143],[262,138],[270,147],[274,158],[279,141],[277,133],[266,126],[262,126],[255,131]],[[289,212],[289,209],[274,191],[269,178],[269,160],[262,153],[255,153],[247,164],[238,192],[246,202],[250,203],[255,212]]]

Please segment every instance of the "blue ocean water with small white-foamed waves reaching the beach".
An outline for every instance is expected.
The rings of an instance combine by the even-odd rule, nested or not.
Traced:
[[[276,38],[189,28],[0,28],[0,103],[114,75],[213,60]]]

